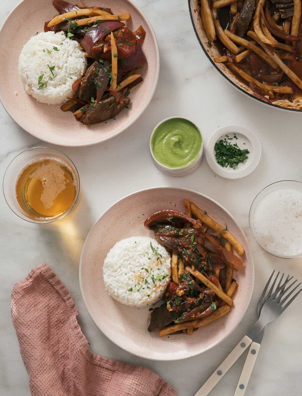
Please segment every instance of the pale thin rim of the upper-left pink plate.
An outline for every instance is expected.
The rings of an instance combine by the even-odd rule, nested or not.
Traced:
[[[15,12],[15,10],[21,6],[22,3],[27,2],[28,0],[21,0],[14,8],[13,10],[10,11],[10,13],[8,14],[8,16],[6,17],[6,19],[4,20],[2,26],[0,27],[0,35],[2,33],[2,29],[4,29],[6,23],[8,22],[8,19],[11,17],[11,15]],[[6,106],[3,103],[3,99],[1,96],[1,90],[0,90],[0,102],[4,108],[4,110],[7,112],[7,114],[10,116],[10,118],[13,120],[13,122],[15,122],[20,128],[22,128],[25,132],[29,133],[30,135],[32,135],[33,137],[36,137],[36,139],[39,139],[41,141],[44,141],[46,143],[52,144],[52,145],[57,145],[57,146],[61,146],[61,147],[87,147],[87,146],[92,146],[92,145],[96,145],[98,143],[103,143],[105,141],[108,141],[109,139],[112,139],[113,137],[118,136],[120,133],[124,132],[126,129],[130,128],[130,126],[132,126],[134,124],[134,122],[136,122],[138,120],[138,118],[141,117],[141,115],[145,112],[145,110],[147,109],[147,107],[149,106],[153,95],[155,93],[155,89],[157,87],[157,83],[159,80],[159,70],[160,70],[160,61],[159,61],[159,46],[158,46],[158,42],[157,42],[157,38],[155,36],[155,32],[154,29],[149,21],[149,19],[147,18],[147,16],[145,15],[145,13],[140,9],[140,7],[133,1],[133,0],[126,0],[127,2],[129,2],[138,13],[140,13],[140,15],[142,16],[144,22],[146,23],[146,25],[149,27],[150,32],[151,32],[151,36],[153,38],[154,44],[155,44],[155,53],[156,53],[156,73],[155,73],[155,79],[153,82],[153,86],[152,89],[150,91],[150,94],[147,98],[147,100],[145,101],[145,104],[143,105],[141,111],[128,123],[126,124],[123,128],[121,128],[119,131],[117,131],[116,133],[114,133],[111,136],[107,136],[104,139],[99,139],[99,140],[95,140],[93,142],[89,142],[89,143],[71,143],[71,144],[67,144],[67,143],[57,143],[54,141],[50,141],[49,139],[41,139],[41,137],[37,136],[35,133],[31,133],[29,132],[28,129],[24,128],[22,125],[22,121],[20,124],[18,124],[14,118],[11,116],[10,112],[8,111],[8,109],[6,108]],[[56,105],[59,106],[59,105]],[[101,124],[101,123],[99,123]],[[101,133],[101,131],[99,132]]]

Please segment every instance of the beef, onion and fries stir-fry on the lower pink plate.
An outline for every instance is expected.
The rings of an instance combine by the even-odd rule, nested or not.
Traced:
[[[243,266],[243,260],[232,253],[231,244],[241,255],[244,249],[227,227],[216,223],[193,202],[184,200],[184,204],[186,215],[164,209],[144,223],[172,253],[172,282],[162,305],[152,310],[148,327],[150,332],[159,329],[159,336],[184,330],[192,334],[193,329],[229,312],[238,287],[232,279],[233,270]]]

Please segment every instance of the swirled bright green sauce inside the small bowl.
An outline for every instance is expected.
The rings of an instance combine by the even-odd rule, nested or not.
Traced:
[[[151,148],[162,165],[183,168],[196,160],[202,142],[201,134],[192,122],[184,118],[170,118],[155,129]]]

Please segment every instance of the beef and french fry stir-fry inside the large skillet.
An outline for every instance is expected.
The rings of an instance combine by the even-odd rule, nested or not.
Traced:
[[[254,92],[273,102],[302,95],[301,0],[201,0],[209,43]]]

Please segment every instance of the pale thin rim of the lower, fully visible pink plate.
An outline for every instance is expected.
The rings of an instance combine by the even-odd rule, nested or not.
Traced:
[[[144,355],[139,354],[139,353],[135,353],[135,352],[133,352],[132,350],[129,350],[128,348],[125,348],[124,346],[117,344],[117,343],[111,338],[111,336],[110,336],[110,331],[108,331],[108,332],[105,333],[103,330],[101,330],[101,329],[99,328],[99,326],[97,326],[96,322],[94,321],[94,318],[92,317],[92,314],[91,314],[91,312],[90,312],[90,310],[89,310],[89,308],[88,308],[88,306],[87,306],[86,298],[85,298],[85,296],[84,296],[84,291],[83,291],[83,286],[82,286],[82,276],[81,276],[81,272],[82,272],[82,259],[83,259],[84,249],[85,249],[85,247],[86,247],[88,238],[90,237],[90,234],[92,233],[92,230],[94,229],[94,227],[96,227],[96,225],[97,225],[97,223],[99,222],[99,220],[101,219],[101,217],[103,217],[103,215],[104,215],[107,211],[109,211],[111,208],[113,208],[113,206],[115,206],[115,205],[118,204],[120,201],[124,200],[125,198],[128,198],[128,197],[130,197],[130,196],[132,196],[132,195],[134,195],[134,194],[138,194],[138,193],[143,192],[143,191],[157,190],[157,189],[162,189],[162,188],[178,189],[178,190],[193,192],[193,193],[195,193],[195,194],[198,194],[198,195],[200,195],[200,196],[203,196],[204,198],[207,198],[208,200],[212,201],[214,204],[216,204],[217,206],[219,206],[220,209],[222,209],[223,211],[225,211],[225,212],[227,213],[227,215],[229,215],[229,217],[231,217],[231,219],[234,221],[235,225],[238,227],[238,229],[240,230],[240,232],[241,232],[241,233],[243,234],[243,236],[245,237],[245,240],[246,240],[246,242],[247,242],[247,246],[248,246],[249,251],[250,251],[250,265],[252,266],[252,287],[251,287],[251,290],[250,290],[250,295],[248,296],[248,303],[247,303],[247,306],[246,306],[246,308],[243,310],[243,314],[241,315],[241,318],[239,319],[238,323],[237,323],[235,326],[233,326],[232,329],[229,331],[229,333],[227,333],[218,343],[216,343],[216,344],[214,344],[214,345],[208,346],[208,348],[206,348],[205,350],[203,350],[203,351],[201,351],[201,352],[196,352],[196,353],[194,353],[194,354],[189,354],[188,356],[185,356],[185,357],[177,357],[177,358],[175,358],[175,359],[171,359],[171,358],[168,358],[168,359],[165,359],[165,358],[153,358],[153,357],[149,357],[149,356],[144,356]],[[196,190],[192,190],[192,189],[190,189],[190,188],[172,187],[172,186],[148,187],[148,188],[142,188],[141,190],[138,190],[138,191],[131,192],[130,194],[127,194],[126,196],[120,198],[119,200],[117,200],[116,202],[114,202],[111,206],[109,206],[109,208],[107,208],[105,211],[103,211],[103,213],[99,216],[99,218],[96,220],[96,222],[94,223],[94,225],[91,227],[90,231],[88,232],[88,234],[87,234],[87,236],[86,236],[86,238],[85,238],[85,242],[84,242],[84,245],[83,245],[83,247],[82,247],[81,256],[80,256],[80,264],[79,264],[79,284],[80,284],[80,291],[81,291],[82,299],[83,299],[83,301],[84,301],[84,305],[85,305],[85,307],[86,307],[86,310],[87,310],[87,312],[88,312],[90,318],[92,319],[92,321],[94,322],[94,324],[96,325],[96,327],[99,329],[99,331],[101,331],[101,333],[103,333],[103,335],[105,335],[105,337],[107,337],[112,343],[114,343],[115,345],[119,346],[119,348],[122,348],[123,350],[125,350],[126,352],[128,352],[128,353],[130,353],[130,354],[132,354],[132,355],[135,355],[135,356],[138,356],[138,357],[140,357],[140,358],[147,359],[147,360],[155,360],[155,361],[161,361],[161,362],[174,362],[174,361],[177,361],[177,360],[184,360],[184,359],[192,358],[193,356],[198,356],[198,355],[200,355],[200,354],[202,354],[202,353],[204,353],[204,352],[206,352],[206,351],[208,351],[208,350],[214,348],[214,346],[220,345],[227,337],[229,337],[229,335],[231,335],[231,333],[233,333],[233,331],[234,331],[234,330],[236,329],[236,327],[239,325],[239,323],[240,323],[241,320],[243,319],[243,316],[244,316],[245,313],[247,312],[247,308],[248,308],[249,305],[250,305],[250,300],[251,300],[251,298],[252,298],[252,293],[253,293],[253,290],[254,290],[254,283],[255,283],[255,266],[254,266],[254,259],[253,259],[253,256],[252,256],[252,251],[251,251],[251,249],[250,249],[250,244],[249,244],[249,242],[248,242],[247,236],[245,235],[245,232],[243,231],[243,229],[241,228],[241,226],[239,225],[239,223],[237,222],[237,220],[236,220],[236,219],[233,217],[233,215],[231,215],[231,213],[229,213],[229,211],[228,211],[226,208],[224,208],[224,206],[222,206],[219,202],[215,201],[213,198],[210,198],[209,196],[207,196],[207,195],[205,195],[205,194],[203,194],[203,193],[201,193],[201,192],[198,192],[198,191],[196,191]]]

